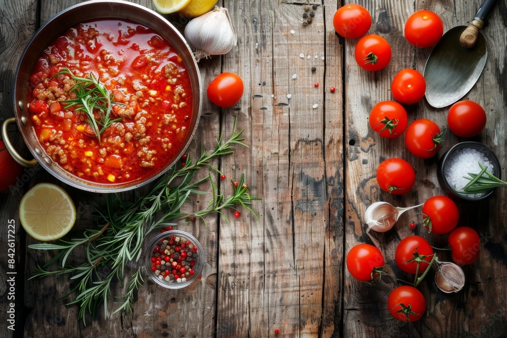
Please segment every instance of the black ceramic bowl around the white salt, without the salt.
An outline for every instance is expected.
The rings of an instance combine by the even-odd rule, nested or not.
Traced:
[[[460,194],[454,190],[454,187],[447,180],[445,175],[446,167],[455,158],[455,156],[465,148],[476,149],[477,151],[484,154],[486,158],[490,161],[490,163],[493,165],[493,175],[495,175],[498,178],[501,178],[502,169],[500,166],[500,162],[498,161],[498,158],[495,156],[495,154],[491,151],[490,148],[488,148],[484,144],[472,141],[461,142],[454,145],[440,158],[437,167],[437,178],[439,180],[440,186],[450,198],[462,201],[481,201],[484,200],[485,198],[488,198],[491,194],[493,194],[495,189],[492,189],[489,192],[484,193],[480,196]]]

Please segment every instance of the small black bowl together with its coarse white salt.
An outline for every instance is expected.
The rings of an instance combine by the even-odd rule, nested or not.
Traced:
[[[442,189],[449,197],[465,201],[480,201],[489,197],[494,189],[483,194],[462,194],[457,191],[470,181],[468,173],[478,174],[481,171],[479,163],[487,168],[491,174],[501,177],[501,167],[495,154],[482,143],[461,142],[451,147],[440,159],[437,177]],[[486,175],[486,174],[484,174]]]

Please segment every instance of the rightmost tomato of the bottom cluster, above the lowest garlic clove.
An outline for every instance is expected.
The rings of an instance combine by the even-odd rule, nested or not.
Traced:
[[[451,231],[447,242],[451,246],[452,260],[458,265],[469,265],[477,260],[481,251],[481,239],[472,228],[459,227]]]

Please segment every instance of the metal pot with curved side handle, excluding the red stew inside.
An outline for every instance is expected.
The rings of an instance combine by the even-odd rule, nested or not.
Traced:
[[[80,22],[98,18],[129,19],[154,29],[161,36],[165,37],[165,39],[167,39],[167,41],[169,41],[169,43],[171,43],[171,45],[179,52],[189,72],[193,95],[193,110],[187,137],[185,138],[179,151],[176,153],[177,155],[171,159],[170,163],[167,164],[165,168],[143,180],[134,180],[118,184],[105,184],[91,182],[70,174],[46,155],[46,152],[40,145],[32,126],[32,121],[27,108],[27,104],[29,103],[27,84],[29,76],[34,69],[35,64],[37,64],[39,57],[49,44],[51,44],[68,28]],[[197,129],[197,123],[201,115],[201,98],[202,85],[197,62],[195,61],[192,50],[185,41],[185,38],[176,30],[176,28],[174,28],[173,25],[159,14],[137,4],[121,0],[92,0],[69,7],[58,13],[55,17],[46,22],[33,36],[32,40],[23,52],[16,70],[14,87],[15,118],[10,118],[4,121],[2,126],[2,138],[6,144],[6,148],[16,162],[25,167],[31,167],[39,163],[53,176],[71,186],[97,193],[112,193],[135,189],[136,187],[147,184],[163,175],[185,153],[185,150]],[[18,128],[21,131],[23,139],[30,153],[33,155],[34,159],[31,161],[27,161],[20,156],[9,140],[7,126],[14,122],[18,124]]]

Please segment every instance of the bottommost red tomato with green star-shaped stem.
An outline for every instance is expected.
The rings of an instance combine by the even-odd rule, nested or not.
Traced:
[[[426,311],[426,299],[415,287],[402,285],[389,293],[387,308],[397,320],[413,322],[421,318]]]

